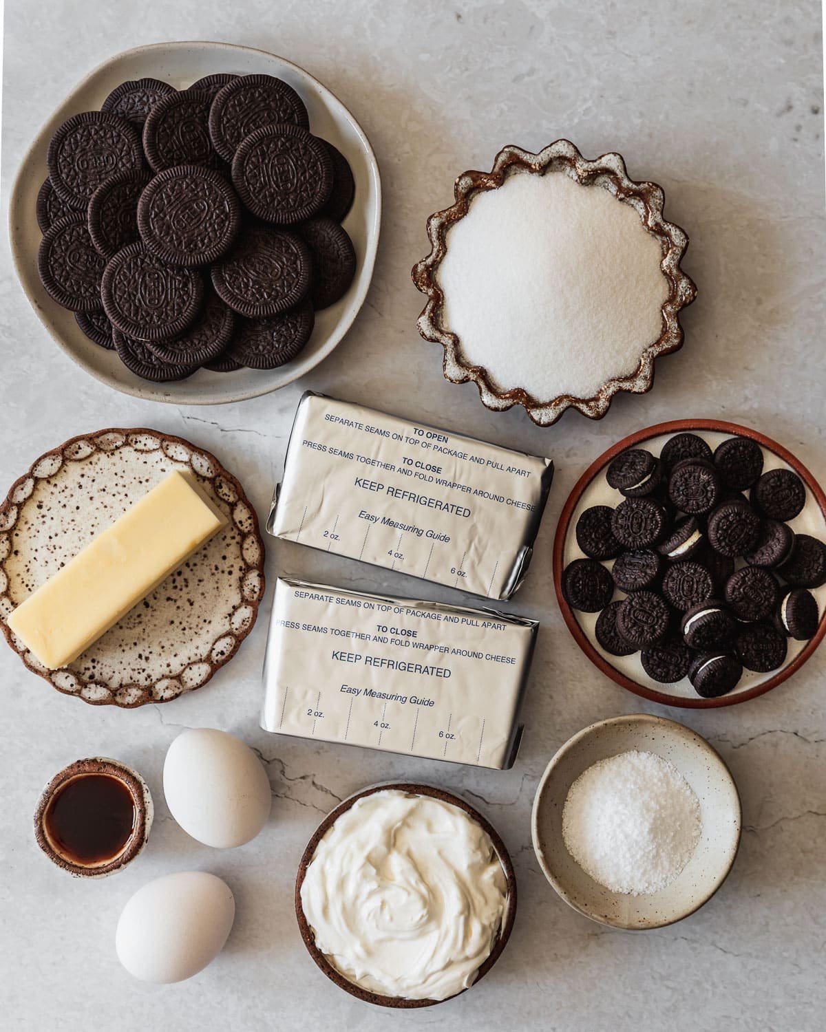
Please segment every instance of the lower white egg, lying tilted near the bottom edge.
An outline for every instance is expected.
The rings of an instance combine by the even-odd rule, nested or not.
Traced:
[[[221,953],[234,916],[232,892],[214,874],[166,874],[138,889],[123,908],[118,959],[141,981],[183,981]]]

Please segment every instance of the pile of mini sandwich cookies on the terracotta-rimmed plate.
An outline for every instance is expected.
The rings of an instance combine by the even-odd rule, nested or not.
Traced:
[[[599,613],[606,652],[639,651],[655,681],[688,677],[713,698],[743,669],[781,667],[789,638],[815,635],[809,589],[826,583],[826,545],[788,525],[805,486],[792,470],[764,472],[755,441],[729,438],[712,452],[678,433],[659,457],[622,452],[606,480],[623,501],[580,515],[576,541],[587,557],[563,573],[569,605]],[[626,596],[613,601],[615,588]]]

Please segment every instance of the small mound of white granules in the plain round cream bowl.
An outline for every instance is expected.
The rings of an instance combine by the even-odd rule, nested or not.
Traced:
[[[700,804],[676,767],[632,750],[600,760],[568,792],[562,832],[595,881],[639,896],[665,889],[700,838]]]

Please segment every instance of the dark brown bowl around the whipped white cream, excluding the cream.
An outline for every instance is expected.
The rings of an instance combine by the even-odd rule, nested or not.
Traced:
[[[502,955],[502,950],[507,945],[510,933],[513,930],[513,922],[516,918],[516,875],[513,871],[513,863],[511,862],[510,853],[508,852],[505,843],[502,841],[493,825],[485,817],[483,817],[475,807],[471,806],[470,803],[466,803],[464,799],[459,799],[458,796],[454,796],[449,792],[445,792],[443,788],[436,787],[435,785],[419,784],[417,782],[410,781],[393,781],[384,784],[374,784],[368,788],[362,788],[361,792],[350,796],[348,799],[341,802],[333,810],[330,810],[318,828],[316,828],[313,837],[307,843],[307,848],[301,856],[300,863],[298,864],[298,873],[295,878],[295,916],[298,920],[298,930],[301,933],[301,939],[304,940],[304,944],[307,946],[310,956],[313,958],[321,971],[323,971],[323,973],[330,979],[330,981],[333,981],[340,989],[343,989],[346,993],[349,993],[358,1000],[363,1000],[366,1003],[374,1003],[382,1007],[414,1009],[417,1007],[431,1007],[437,1003],[445,1003],[447,1000],[454,1000],[457,996],[462,996],[463,993],[467,993],[468,989],[464,989],[460,993],[455,993],[453,996],[448,996],[444,1000],[408,1000],[396,996],[382,996],[379,993],[371,993],[368,990],[362,989],[360,986],[354,985],[345,978],[344,975],[336,967],[333,967],[332,964],[330,964],[326,956],[318,948],[315,936],[313,935],[313,930],[305,916],[304,907],[301,906],[301,885],[304,884],[304,878],[307,874],[307,868],[310,866],[310,862],[315,856],[318,843],[324,835],[326,835],[338,817],[340,817],[346,810],[349,810],[353,803],[357,802],[359,799],[363,799],[366,796],[372,796],[377,792],[405,792],[413,796],[431,796],[433,799],[438,799],[443,803],[450,803],[452,806],[457,807],[459,810],[463,810],[471,816],[483,829],[483,831],[487,833],[494,844],[494,848],[496,849],[499,861],[502,864],[502,870],[505,874],[507,893],[505,918],[503,926],[499,931],[499,936],[494,943],[494,948],[490,950],[487,960],[476,972],[476,978],[473,983],[468,987],[468,989],[473,989],[478,985],[479,980],[487,974],[490,968],[499,960]]]

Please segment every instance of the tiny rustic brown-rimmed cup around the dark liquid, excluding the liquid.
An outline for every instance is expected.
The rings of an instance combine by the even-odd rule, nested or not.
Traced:
[[[45,827],[45,817],[49,806],[58,792],[66,787],[69,782],[88,774],[106,774],[117,778],[132,797],[134,819],[129,837],[115,857],[97,864],[77,864],[65,857],[60,851],[60,847],[52,841]],[[73,764],[64,767],[43,788],[34,811],[34,837],[46,857],[61,870],[67,871],[77,878],[104,878],[106,875],[122,871],[127,864],[131,864],[144,851],[149,840],[154,815],[155,807],[152,802],[152,794],[149,791],[149,785],[137,771],[133,771],[131,767],[127,767],[117,760],[109,760],[107,756],[90,756],[86,760],[75,760]]]

